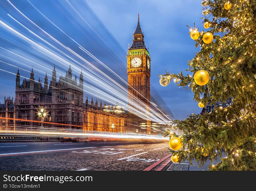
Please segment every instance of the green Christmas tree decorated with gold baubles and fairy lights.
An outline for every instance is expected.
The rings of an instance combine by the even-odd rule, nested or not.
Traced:
[[[166,86],[174,79],[179,86],[188,85],[200,107],[228,99],[232,104],[175,120],[173,128],[183,134],[171,137],[179,137],[182,148],[170,151],[174,162],[204,165],[220,157],[209,170],[256,170],[256,1],[204,0],[202,6],[205,30],[190,32],[200,47],[188,62],[193,75],[166,72],[160,83]]]

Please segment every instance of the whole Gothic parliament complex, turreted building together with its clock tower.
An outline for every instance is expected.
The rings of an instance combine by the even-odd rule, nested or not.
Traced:
[[[49,130],[82,129],[83,132],[107,131],[126,133],[127,128],[138,129],[144,124],[147,134],[151,133],[149,119],[142,120],[131,112],[134,99],[141,100],[139,107],[149,113],[150,108],[150,54],[145,47],[144,34],[141,30],[139,15],[138,24],[133,34],[133,43],[127,52],[128,74],[128,105],[130,110],[123,111],[116,103],[106,105],[103,101],[88,100],[83,102],[83,74],[79,78],[72,75],[71,66],[65,76],[57,81],[55,66],[48,84],[45,74],[44,81],[34,78],[33,68],[29,79],[21,83],[19,70],[16,75],[15,101],[5,98],[0,104],[0,131],[15,130]],[[146,106],[146,107],[145,107]],[[46,112],[43,125],[38,112],[43,108]],[[15,120],[14,120],[15,119]],[[142,122],[142,123],[141,123]],[[141,132],[140,132],[141,133]]]

